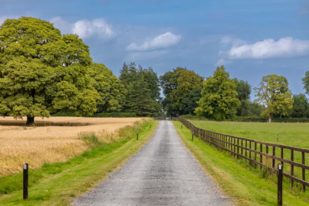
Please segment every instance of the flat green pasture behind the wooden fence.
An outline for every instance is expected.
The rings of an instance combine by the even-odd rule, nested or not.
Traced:
[[[215,131],[223,134],[229,134],[248,139],[259,140],[263,142],[277,143],[300,148],[309,148],[309,124],[308,123],[244,123],[244,122],[213,122],[213,121],[191,121],[195,126]],[[259,145],[258,145],[259,148]],[[263,148],[265,153],[265,147]],[[249,152],[248,152],[249,153]],[[272,154],[272,147],[269,148],[269,154]],[[276,150],[276,156],[280,156],[280,150]],[[283,156],[290,160],[290,150],[284,150]],[[259,159],[259,155],[257,157]],[[263,162],[265,164],[265,158]],[[301,152],[294,151],[294,161],[302,163]],[[276,164],[280,163],[276,160]],[[309,164],[309,156],[305,157],[305,163]],[[267,162],[271,167],[271,161]],[[290,173],[290,165],[286,164],[284,172]],[[302,171],[299,167],[294,167],[294,176],[301,179]],[[288,180],[290,181],[290,180]],[[309,174],[306,174],[306,181],[309,181]],[[300,186],[300,184],[297,184]]]

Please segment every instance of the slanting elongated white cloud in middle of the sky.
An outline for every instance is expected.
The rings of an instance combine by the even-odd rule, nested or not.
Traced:
[[[172,32],[166,32],[154,37],[151,40],[145,40],[144,43],[138,45],[133,42],[128,47],[128,51],[147,51],[158,48],[167,48],[176,45],[180,42],[181,36],[173,34]]]

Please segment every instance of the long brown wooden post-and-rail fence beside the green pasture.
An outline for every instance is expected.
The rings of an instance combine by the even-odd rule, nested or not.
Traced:
[[[249,161],[250,165],[256,168],[257,166],[260,168],[265,167],[269,171],[277,172],[276,161],[281,164],[285,163],[283,176],[291,180],[291,187],[294,187],[294,182],[302,184],[303,191],[306,191],[306,186],[309,186],[309,181],[306,181],[306,172],[309,172],[309,165],[306,165],[306,154],[308,156],[309,149],[261,142],[201,129],[182,117],[177,117],[176,120],[191,129],[194,135],[200,137],[203,141],[208,142],[218,150],[228,151],[237,159],[242,158]],[[280,152],[280,156],[276,156],[276,152]],[[287,156],[284,158],[284,152],[290,153],[290,159],[286,159]],[[299,154],[299,158],[295,155],[296,153]]]

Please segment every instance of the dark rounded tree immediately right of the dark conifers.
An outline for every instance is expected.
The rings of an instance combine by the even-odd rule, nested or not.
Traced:
[[[167,115],[193,114],[201,98],[203,77],[194,71],[178,67],[160,77],[165,99],[162,106]]]

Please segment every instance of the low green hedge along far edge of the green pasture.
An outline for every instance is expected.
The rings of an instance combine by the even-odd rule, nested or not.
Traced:
[[[194,115],[182,115],[184,119],[192,120],[211,120],[205,117],[198,117]],[[225,121],[239,121],[239,122],[267,122],[267,118],[252,116],[252,117],[234,117]],[[273,122],[309,122],[309,118],[274,118]]]

